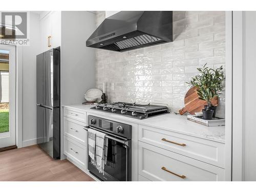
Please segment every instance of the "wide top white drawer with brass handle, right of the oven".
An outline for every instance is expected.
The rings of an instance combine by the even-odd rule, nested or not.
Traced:
[[[139,141],[225,168],[225,144],[139,125]]]

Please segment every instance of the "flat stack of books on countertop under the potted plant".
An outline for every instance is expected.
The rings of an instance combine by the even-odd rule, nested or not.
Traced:
[[[197,117],[196,115],[188,115],[187,119],[190,121],[194,121],[200,124],[203,124],[205,126],[223,126],[225,125],[225,119],[215,117],[211,120],[206,120],[203,117]]]

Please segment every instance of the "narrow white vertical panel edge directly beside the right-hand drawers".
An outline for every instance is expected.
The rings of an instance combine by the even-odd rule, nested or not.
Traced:
[[[225,180],[232,179],[232,11],[226,11]]]

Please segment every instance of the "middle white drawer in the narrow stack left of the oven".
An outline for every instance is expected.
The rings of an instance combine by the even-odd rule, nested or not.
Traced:
[[[86,123],[68,117],[64,117],[63,121],[64,134],[82,145],[86,145],[86,130],[83,129]]]

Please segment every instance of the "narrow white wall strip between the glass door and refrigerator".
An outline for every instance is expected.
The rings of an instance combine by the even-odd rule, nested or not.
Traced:
[[[39,14],[30,12],[30,46],[22,48],[23,147],[36,144],[36,55],[39,54]]]

